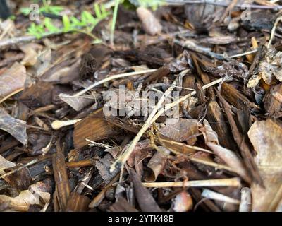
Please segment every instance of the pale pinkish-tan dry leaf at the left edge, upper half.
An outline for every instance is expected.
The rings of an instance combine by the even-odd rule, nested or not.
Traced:
[[[25,66],[14,63],[10,69],[0,74],[0,97],[13,93],[25,85],[27,77]]]

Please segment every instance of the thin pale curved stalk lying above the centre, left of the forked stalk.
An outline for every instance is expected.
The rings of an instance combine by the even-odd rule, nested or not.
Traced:
[[[97,83],[94,83],[90,86],[88,86],[87,88],[81,90],[80,92],[78,93],[75,93],[75,95],[63,95],[63,93],[61,93],[59,96],[60,97],[78,97],[84,93],[86,93],[87,91],[91,90],[92,88],[96,87],[97,85],[102,85],[103,83],[106,83],[107,81],[111,81],[111,80],[114,80],[114,79],[117,79],[117,78],[124,78],[124,77],[128,77],[128,76],[137,76],[137,75],[140,75],[142,73],[151,73],[151,72],[154,72],[154,71],[157,71],[157,69],[148,69],[148,70],[144,70],[144,71],[133,71],[133,72],[129,72],[129,73],[121,73],[119,75],[114,75],[114,76],[109,76],[107,78],[104,78],[100,81],[97,81]]]

